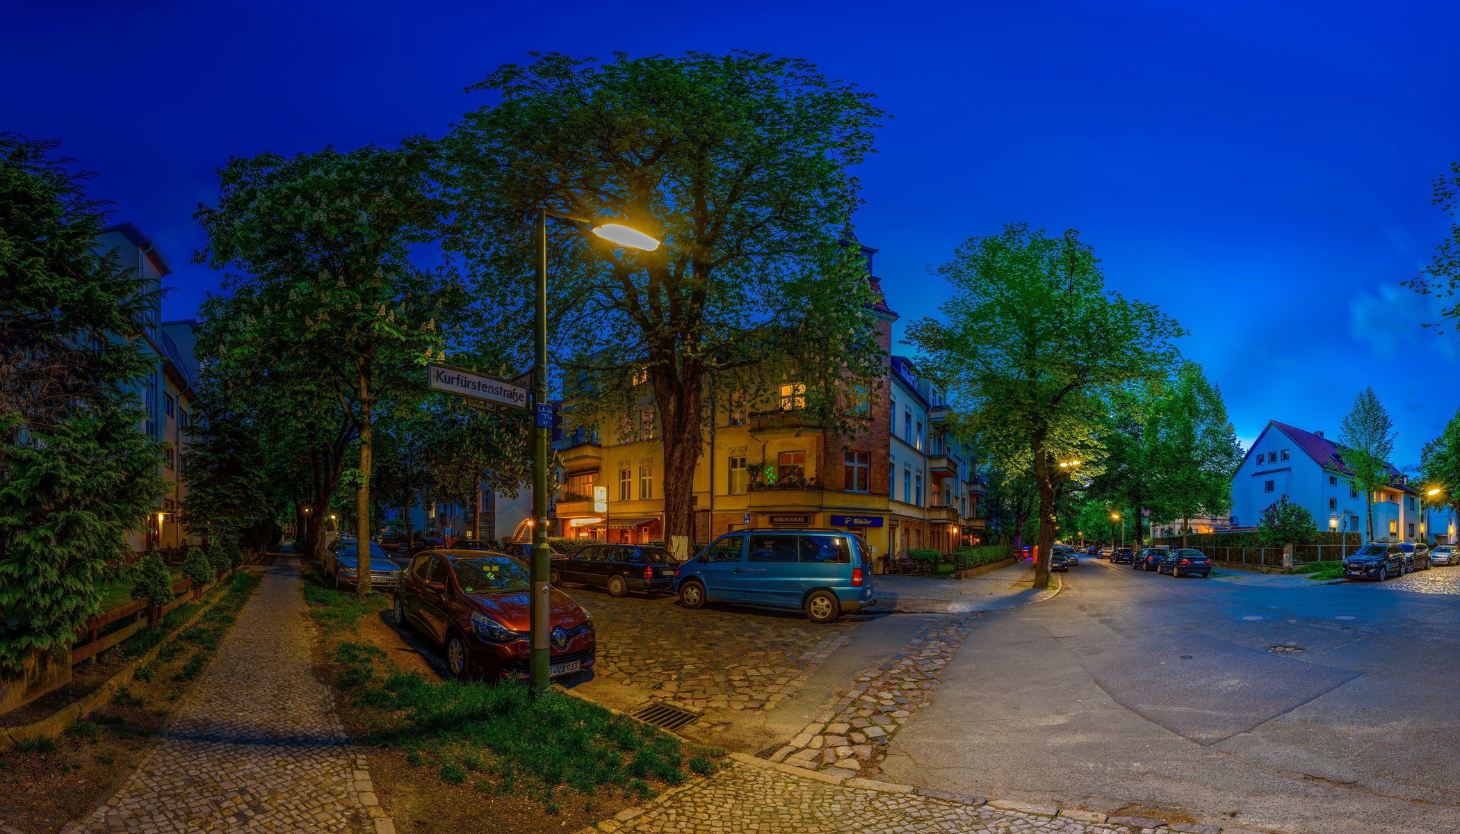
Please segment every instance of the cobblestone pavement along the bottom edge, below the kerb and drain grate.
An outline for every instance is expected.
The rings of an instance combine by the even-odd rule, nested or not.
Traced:
[[[1107,818],[1104,814],[980,797],[912,793],[905,786],[829,783],[800,768],[737,757],[714,776],[629,809],[588,831],[714,834],[1218,834],[1216,825]],[[783,770],[784,768],[784,770]],[[819,777],[822,774],[810,774]],[[876,787],[870,787],[877,784]],[[1115,821],[1124,822],[1117,824]],[[1234,834],[1237,830],[1231,830]]]

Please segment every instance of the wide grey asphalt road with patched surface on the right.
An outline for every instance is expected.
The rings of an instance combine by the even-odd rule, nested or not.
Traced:
[[[1460,567],[1263,587],[1082,559],[984,615],[892,781],[1292,833],[1460,833]]]

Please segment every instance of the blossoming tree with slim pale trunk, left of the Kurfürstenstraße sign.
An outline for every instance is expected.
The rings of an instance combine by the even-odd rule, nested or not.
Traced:
[[[231,288],[247,298],[229,346],[266,364],[273,355],[258,355],[257,345],[277,348],[317,381],[317,393],[333,389],[349,418],[359,450],[361,542],[371,535],[375,402],[419,386],[426,359],[444,356],[438,320],[461,307],[447,276],[412,260],[413,247],[435,240],[447,212],[434,171],[434,146],[419,140],[400,149],[235,158],[219,171],[218,206],[196,215],[207,232],[197,260],[237,270]],[[225,348],[222,356],[242,359],[229,353]],[[334,464],[339,473],[342,462]],[[369,593],[366,577],[361,571],[361,594]]]

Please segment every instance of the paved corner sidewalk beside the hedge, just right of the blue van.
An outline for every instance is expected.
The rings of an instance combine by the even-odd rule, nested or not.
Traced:
[[[872,580],[872,586],[877,592],[877,605],[866,611],[870,613],[889,611],[899,613],[974,613],[1019,608],[1060,593],[1057,587],[1034,590],[1029,587],[1032,578],[1034,565],[1029,562],[1015,562],[971,580],[877,574]],[[1058,581],[1057,577],[1056,581]]]

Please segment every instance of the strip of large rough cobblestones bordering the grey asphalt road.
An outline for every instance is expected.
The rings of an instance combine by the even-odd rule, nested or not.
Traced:
[[[904,722],[931,703],[939,673],[977,619],[977,613],[961,613],[924,628],[886,663],[858,673],[771,761],[840,777],[876,773],[885,745]]]

